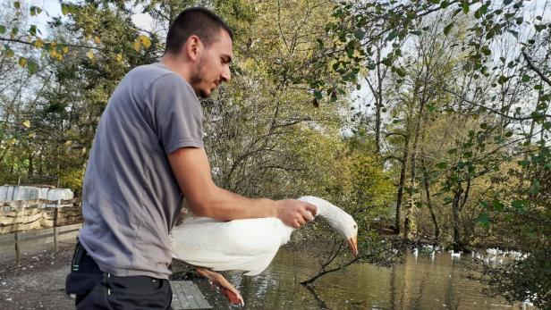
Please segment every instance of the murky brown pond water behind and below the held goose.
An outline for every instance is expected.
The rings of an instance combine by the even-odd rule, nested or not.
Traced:
[[[483,286],[468,279],[470,256],[452,258],[447,252],[408,255],[393,268],[352,265],[316,281],[315,293],[301,286],[318,271],[318,263],[300,250],[281,248],[272,264],[257,276],[226,272],[240,290],[246,309],[516,309],[503,298],[482,294]],[[208,281],[196,281],[215,309],[232,308]]]

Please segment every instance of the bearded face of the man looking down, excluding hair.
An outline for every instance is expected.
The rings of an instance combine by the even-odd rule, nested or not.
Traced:
[[[231,78],[230,63],[232,61],[232,38],[220,29],[218,39],[204,46],[203,53],[191,73],[191,87],[198,96],[206,98],[222,82]]]

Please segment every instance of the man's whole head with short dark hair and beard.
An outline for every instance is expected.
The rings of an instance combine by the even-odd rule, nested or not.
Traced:
[[[191,87],[202,97],[230,80],[233,32],[215,13],[194,7],[180,13],[166,36],[165,54],[182,55],[190,64]]]

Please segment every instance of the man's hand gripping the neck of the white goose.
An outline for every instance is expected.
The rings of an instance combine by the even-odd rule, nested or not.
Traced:
[[[314,219],[313,214],[318,213],[318,208],[315,205],[296,200],[284,199],[277,200],[277,218],[294,228],[301,228],[306,222]]]

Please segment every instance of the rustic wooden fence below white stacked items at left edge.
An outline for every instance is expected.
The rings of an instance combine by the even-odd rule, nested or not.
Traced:
[[[56,251],[60,237],[76,235],[81,222],[79,199],[0,202],[0,246],[13,245],[15,260],[19,262],[22,242],[53,241]]]

